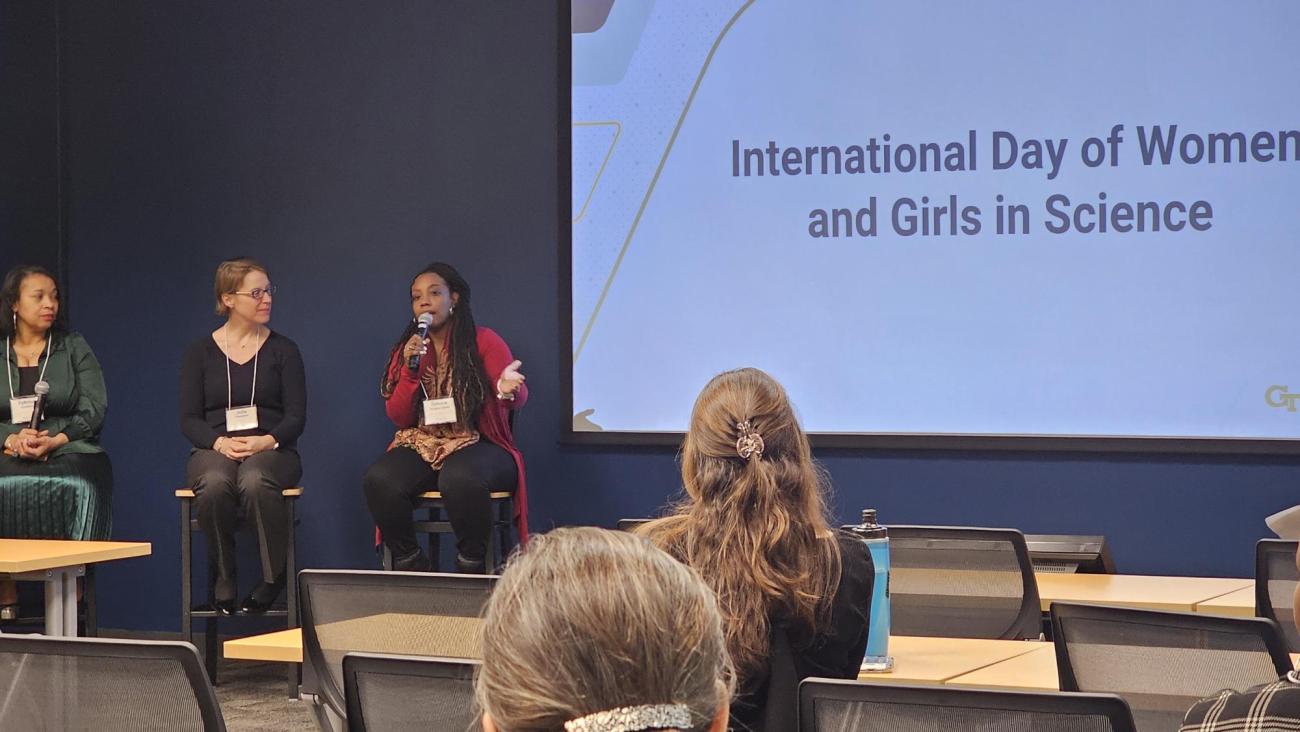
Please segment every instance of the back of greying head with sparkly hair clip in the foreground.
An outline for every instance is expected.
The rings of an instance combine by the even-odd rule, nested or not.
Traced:
[[[488,729],[725,728],[733,681],[712,592],[644,538],[533,537],[502,572],[482,637]]]

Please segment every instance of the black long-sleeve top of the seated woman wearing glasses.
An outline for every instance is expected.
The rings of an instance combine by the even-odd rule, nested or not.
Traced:
[[[181,360],[181,432],[199,449],[218,437],[269,434],[282,450],[294,450],[307,425],[307,376],[298,345],[270,332],[257,351],[257,428],[226,432],[226,355],[212,335],[185,350]],[[231,400],[247,407],[252,393],[254,359],[230,363]]]

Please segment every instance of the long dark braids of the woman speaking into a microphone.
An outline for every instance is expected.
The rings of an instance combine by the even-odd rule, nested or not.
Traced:
[[[425,265],[411,281],[415,282],[421,274],[430,273],[442,277],[447,287],[459,295],[455,311],[451,313],[451,343],[447,347],[451,358],[451,397],[456,402],[459,423],[469,429],[478,429],[478,411],[488,398],[488,385],[484,360],[478,354],[478,326],[474,325],[474,313],[469,307],[469,283],[456,268],[443,261]],[[389,351],[389,363],[384,369],[384,377],[380,378],[380,394],[385,399],[393,395],[400,369],[406,368],[402,348],[415,335],[415,329],[416,322],[412,320]]]

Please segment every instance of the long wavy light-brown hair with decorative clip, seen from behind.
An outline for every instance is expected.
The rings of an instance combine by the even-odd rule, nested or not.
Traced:
[[[815,631],[840,581],[826,481],[776,380],[742,368],[705,386],[681,447],[681,481],[686,499],[638,533],[712,586],[742,685],[759,680],[772,620]]]

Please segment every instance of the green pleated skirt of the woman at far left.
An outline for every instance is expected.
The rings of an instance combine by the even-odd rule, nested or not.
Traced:
[[[113,465],[104,452],[35,463],[0,456],[0,538],[103,541],[113,533]]]

